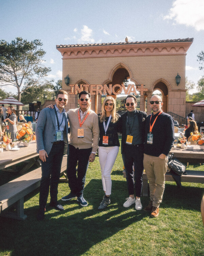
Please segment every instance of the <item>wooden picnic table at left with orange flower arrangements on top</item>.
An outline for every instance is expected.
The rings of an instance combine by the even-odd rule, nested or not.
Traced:
[[[40,166],[39,154],[36,153],[35,141],[31,141],[28,147],[23,146],[23,143],[21,142],[19,147],[20,150],[18,151],[3,150],[3,152],[0,153],[0,170],[6,171],[4,168],[11,166],[12,169],[9,169],[8,171],[15,171],[15,165],[23,161],[27,161],[27,165],[20,171],[21,174],[28,171],[34,163],[36,163],[38,167]]]

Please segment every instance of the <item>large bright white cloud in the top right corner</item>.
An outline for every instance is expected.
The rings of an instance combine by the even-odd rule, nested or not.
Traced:
[[[197,31],[204,30],[204,1],[176,0],[164,19],[173,19],[177,24],[194,27]]]

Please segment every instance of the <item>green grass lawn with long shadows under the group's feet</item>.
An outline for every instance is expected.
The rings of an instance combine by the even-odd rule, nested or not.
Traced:
[[[204,255],[204,184],[182,183],[178,189],[175,182],[166,182],[159,217],[150,218],[134,205],[123,207],[128,193],[122,166],[119,153],[112,171],[111,204],[103,211],[97,209],[103,197],[98,157],[87,171],[87,207],[75,199],[60,201],[64,211],[47,205],[45,220],[37,222],[39,189],[33,191],[25,198],[25,221],[0,218],[0,255]],[[204,165],[188,168],[204,170]],[[67,183],[59,184],[59,199],[69,192]],[[141,202],[144,207],[149,198],[141,197]]]

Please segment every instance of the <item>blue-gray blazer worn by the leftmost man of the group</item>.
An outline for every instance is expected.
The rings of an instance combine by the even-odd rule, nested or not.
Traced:
[[[69,155],[69,143],[68,143],[68,116],[65,113],[65,126],[66,129],[64,130],[64,154]],[[45,149],[47,154],[49,155],[54,137],[55,137],[55,124],[56,124],[56,117],[54,109],[45,108],[40,111],[40,114],[37,119],[37,125],[35,128],[35,135],[36,135],[36,142],[37,142],[37,153],[39,150]]]

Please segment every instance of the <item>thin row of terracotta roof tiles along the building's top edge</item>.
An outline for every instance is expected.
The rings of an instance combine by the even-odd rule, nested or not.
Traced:
[[[185,39],[166,39],[166,40],[153,40],[153,41],[136,41],[136,42],[119,42],[119,43],[99,43],[99,44],[61,44],[56,45],[56,48],[68,48],[68,47],[83,47],[83,46],[101,46],[101,45],[119,45],[119,44],[151,44],[151,43],[174,43],[174,42],[193,42],[193,38]]]

